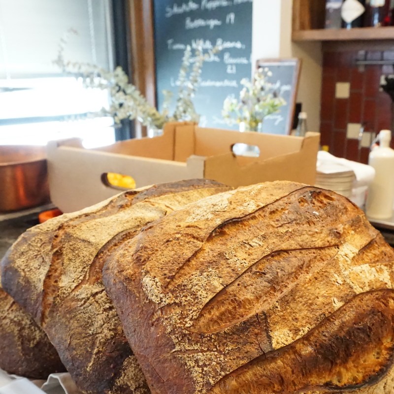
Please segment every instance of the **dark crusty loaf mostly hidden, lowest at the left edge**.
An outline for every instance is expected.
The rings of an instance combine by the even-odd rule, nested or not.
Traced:
[[[45,332],[1,287],[0,368],[32,379],[66,371]]]

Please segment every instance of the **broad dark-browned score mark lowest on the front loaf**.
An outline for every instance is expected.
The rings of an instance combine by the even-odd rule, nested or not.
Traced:
[[[210,394],[348,392],[380,381],[394,361],[394,291],[354,296],[302,338],[234,370]]]

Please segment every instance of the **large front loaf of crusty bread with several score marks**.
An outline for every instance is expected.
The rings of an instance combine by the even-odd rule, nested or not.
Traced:
[[[392,394],[393,261],[345,197],[273,182],[167,215],[103,281],[152,393]]]

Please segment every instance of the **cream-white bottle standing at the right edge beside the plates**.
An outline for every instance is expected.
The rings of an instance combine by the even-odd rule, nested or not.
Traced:
[[[373,219],[390,219],[394,203],[394,150],[390,148],[391,131],[378,135],[379,147],[369,154],[368,164],[375,168],[375,178],[369,186],[366,215]]]

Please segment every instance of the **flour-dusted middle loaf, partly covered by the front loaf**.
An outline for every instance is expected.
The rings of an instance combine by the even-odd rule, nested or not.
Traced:
[[[106,295],[107,250],[167,212],[229,190],[192,180],[131,191],[23,235],[3,262],[3,286],[32,313],[84,393],[148,393]]]

